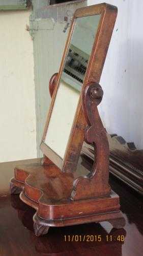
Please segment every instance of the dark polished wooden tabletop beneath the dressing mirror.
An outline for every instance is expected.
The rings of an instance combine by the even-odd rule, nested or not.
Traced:
[[[45,236],[35,237],[32,219],[34,209],[21,202],[18,195],[9,195],[9,179],[13,176],[14,166],[29,161],[0,164],[1,256],[143,255],[142,197],[111,175],[110,185],[121,199],[121,209],[126,219],[125,229],[115,230],[108,222],[102,222],[50,228]],[[125,241],[121,241],[121,236],[126,236]]]

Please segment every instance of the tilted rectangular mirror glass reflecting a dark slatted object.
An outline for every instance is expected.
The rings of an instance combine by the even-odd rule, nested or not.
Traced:
[[[69,49],[44,141],[62,159],[70,136],[100,16],[97,14],[75,18]]]

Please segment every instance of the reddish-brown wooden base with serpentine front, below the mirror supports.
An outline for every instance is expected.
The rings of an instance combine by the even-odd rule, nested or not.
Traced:
[[[36,209],[33,217],[36,236],[48,232],[49,227],[70,226],[90,222],[109,221],[113,227],[125,225],[120,211],[119,196],[73,201],[70,199],[74,175],[64,174],[55,165],[32,165],[15,168],[10,183],[11,194],[21,191],[20,199]]]

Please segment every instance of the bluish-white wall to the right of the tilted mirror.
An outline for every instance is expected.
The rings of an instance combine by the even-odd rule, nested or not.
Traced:
[[[89,5],[104,1],[89,0]],[[143,1],[106,0],[118,7],[100,84],[100,113],[109,133],[143,148]]]

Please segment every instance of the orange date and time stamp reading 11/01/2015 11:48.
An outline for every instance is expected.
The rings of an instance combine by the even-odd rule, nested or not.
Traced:
[[[71,234],[64,236],[65,242],[124,242],[125,236],[124,234],[120,234],[119,236],[107,235],[102,237],[100,234]]]

